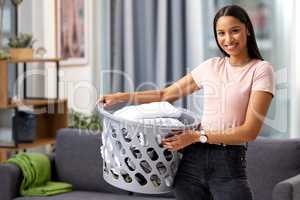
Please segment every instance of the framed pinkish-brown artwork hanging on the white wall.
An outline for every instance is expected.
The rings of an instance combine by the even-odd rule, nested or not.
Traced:
[[[56,49],[62,65],[88,63],[87,0],[56,0]]]

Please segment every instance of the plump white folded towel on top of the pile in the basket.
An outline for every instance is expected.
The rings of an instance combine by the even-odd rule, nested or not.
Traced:
[[[151,118],[179,118],[181,110],[175,108],[169,102],[153,102],[148,104],[126,106],[114,112],[115,116],[128,120],[151,119]]]

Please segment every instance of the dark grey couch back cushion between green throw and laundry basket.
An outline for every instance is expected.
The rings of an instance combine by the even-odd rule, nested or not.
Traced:
[[[102,177],[101,133],[61,129],[56,137],[57,178],[73,185],[74,190],[126,193]]]

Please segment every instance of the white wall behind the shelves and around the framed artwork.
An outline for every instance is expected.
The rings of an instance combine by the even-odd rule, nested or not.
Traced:
[[[86,1],[88,5],[88,63],[86,65],[62,66],[60,72],[60,97],[68,99],[69,107],[89,113],[95,105],[97,92],[92,84],[96,52],[96,36],[94,36],[94,13],[95,2]],[[30,11],[32,10],[32,12]],[[56,55],[56,21],[55,1],[53,0],[31,0],[23,1],[19,9],[20,31],[32,32],[38,40],[35,47],[43,46],[47,53],[45,57]],[[55,68],[48,64],[45,72],[46,96],[56,96]],[[36,82],[35,85],[41,84]]]

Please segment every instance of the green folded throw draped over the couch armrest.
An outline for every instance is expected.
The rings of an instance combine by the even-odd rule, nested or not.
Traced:
[[[22,196],[49,196],[72,190],[72,185],[51,182],[49,158],[41,153],[20,153],[7,162],[16,164],[23,173],[20,186]]]

